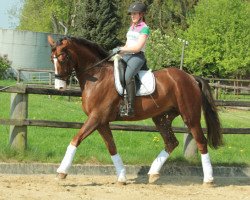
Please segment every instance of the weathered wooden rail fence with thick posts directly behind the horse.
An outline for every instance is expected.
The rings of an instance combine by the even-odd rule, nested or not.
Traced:
[[[249,89],[249,88],[248,88]],[[60,95],[80,97],[80,88],[71,88],[66,91],[59,91],[52,86],[16,84],[14,86],[0,86],[0,92],[11,93],[11,115],[10,119],[0,119],[0,124],[10,125],[10,146],[14,149],[23,150],[27,147],[27,127],[40,126],[51,128],[74,128],[80,129],[82,122],[64,122],[49,120],[28,119],[28,95]],[[250,107],[249,101],[224,101],[216,100],[217,106]],[[141,132],[158,132],[155,126],[112,124],[111,130],[123,130]],[[203,129],[206,133],[206,128]],[[184,134],[184,156],[192,157],[197,153],[197,147],[192,135],[186,127],[173,127],[176,133]],[[250,128],[222,128],[223,134],[250,134]]]

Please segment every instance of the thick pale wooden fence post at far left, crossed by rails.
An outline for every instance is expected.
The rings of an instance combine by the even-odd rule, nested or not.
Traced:
[[[28,95],[11,94],[10,118],[23,120],[28,117]],[[9,143],[11,148],[24,150],[27,148],[27,126],[10,126]]]

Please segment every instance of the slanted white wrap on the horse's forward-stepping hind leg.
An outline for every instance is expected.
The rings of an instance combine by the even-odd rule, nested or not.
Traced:
[[[163,164],[166,162],[169,157],[168,152],[162,150],[161,153],[157,156],[157,158],[152,163],[148,174],[159,174]]]

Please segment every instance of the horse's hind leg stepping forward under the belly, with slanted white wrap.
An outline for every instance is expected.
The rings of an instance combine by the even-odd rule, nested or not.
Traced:
[[[169,154],[179,144],[172,130],[172,121],[176,116],[178,116],[176,112],[169,112],[152,118],[153,122],[156,125],[156,128],[158,129],[163,138],[163,141],[165,143],[165,149],[160,152],[160,154],[153,161],[150,167],[150,170],[148,172],[149,183],[155,182],[159,178],[159,172],[161,170],[161,167],[166,162],[167,158],[169,157]]]

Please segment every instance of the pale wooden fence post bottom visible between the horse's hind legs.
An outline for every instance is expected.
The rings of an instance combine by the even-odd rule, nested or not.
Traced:
[[[197,145],[191,133],[184,134],[183,153],[185,158],[192,158],[197,155]]]

